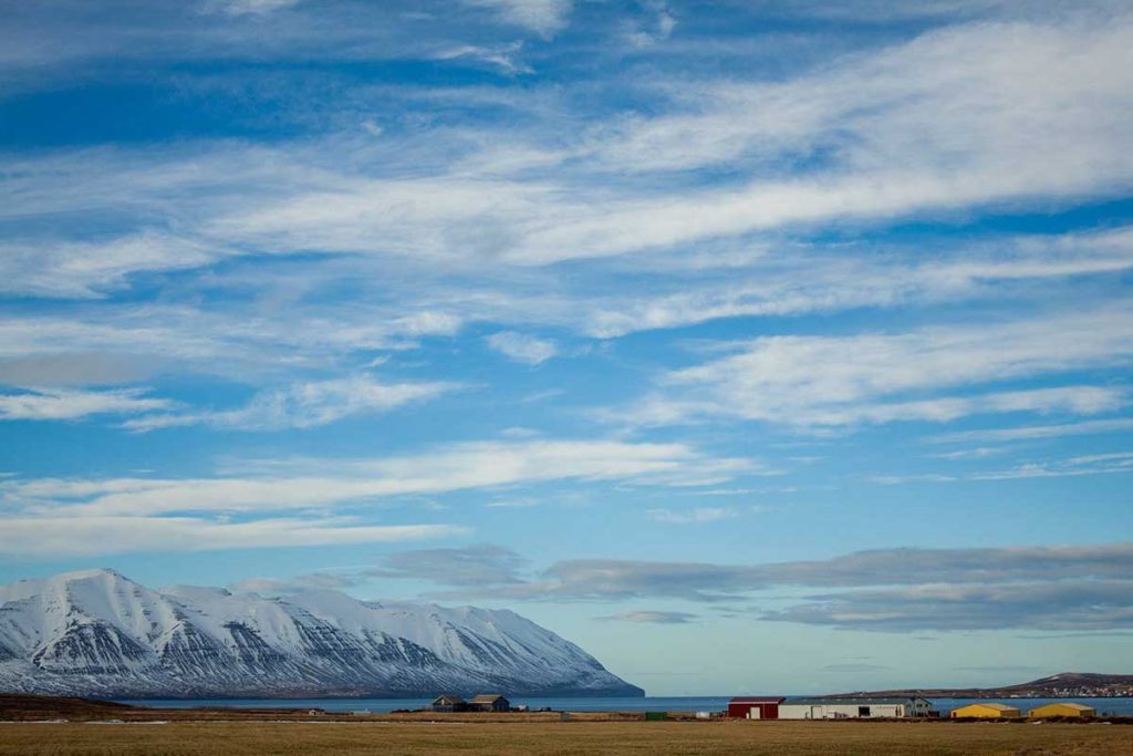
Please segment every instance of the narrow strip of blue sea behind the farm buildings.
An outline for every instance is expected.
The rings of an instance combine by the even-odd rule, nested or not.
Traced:
[[[646,696],[645,698],[539,698],[516,696],[512,706],[530,710],[551,708],[568,712],[721,712],[727,708],[729,696]],[[147,698],[120,699],[123,704],[194,708],[233,706],[239,708],[322,708],[329,712],[369,712],[384,714],[398,708],[425,708],[431,698]],[[1133,716],[1133,698],[929,698],[932,708],[946,716],[953,708],[976,700],[999,700],[1028,710],[1054,702],[1077,702],[1092,706],[1100,715]]]

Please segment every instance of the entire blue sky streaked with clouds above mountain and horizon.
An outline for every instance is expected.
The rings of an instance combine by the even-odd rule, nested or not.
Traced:
[[[1133,10],[0,0],[0,583],[651,695],[1133,673]]]

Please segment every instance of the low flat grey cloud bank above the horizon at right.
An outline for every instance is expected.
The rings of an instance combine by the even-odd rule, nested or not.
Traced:
[[[838,591],[795,597],[800,603],[784,610],[749,609],[748,614],[881,631],[1107,630],[1127,626],[1133,612],[1127,580],[1131,568],[1133,544],[1118,543],[880,549],[765,564],[570,560],[556,562],[531,579],[521,580],[509,571],[506,580],[477,588],[455,584],[444,575],[435,575],[434,580],[461,588],[451,595],[598,602],[758,602],[773,588],[783,598],[791,588],[827,587]]]

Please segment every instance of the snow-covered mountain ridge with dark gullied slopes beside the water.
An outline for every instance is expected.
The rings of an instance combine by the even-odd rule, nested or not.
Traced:
[[[119,697],[644,695],[510,611],[151,591],[113,570],[0,587],[0,691]]]

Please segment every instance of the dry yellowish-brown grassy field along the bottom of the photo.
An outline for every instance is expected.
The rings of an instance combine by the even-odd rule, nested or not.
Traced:
[[[1133,754],[1133,727],[900,722],[0,723],[0,754]]]

